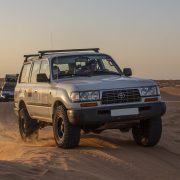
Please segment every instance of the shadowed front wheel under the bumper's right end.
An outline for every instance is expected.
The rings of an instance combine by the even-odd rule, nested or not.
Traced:
[[[155,146],[158,144],[162,133],[161,117],[141,121],[132,128],[135,142],[140,146]]]

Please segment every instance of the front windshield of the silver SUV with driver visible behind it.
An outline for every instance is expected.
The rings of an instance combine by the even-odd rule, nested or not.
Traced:
[[[53,79],[73,76],[122,75],[108,56],[58,57],[52,60]]]

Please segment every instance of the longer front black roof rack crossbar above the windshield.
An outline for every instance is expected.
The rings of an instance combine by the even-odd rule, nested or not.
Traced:
[[[99,52],[99,48],[88,48],[88,49],[64,49],[64,50],[47,50],[47,51],[39,51],[40,57],[44,56],[45,54],[53,54],[53,53],[63,53],[63,52],[75,52],[75,51],[94,51]]]

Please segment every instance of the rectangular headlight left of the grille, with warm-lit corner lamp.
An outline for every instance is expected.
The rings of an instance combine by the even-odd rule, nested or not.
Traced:
[[[71,100],[73,102],[86,102],[86,101],[97,101],[100,99],[99,91],[82,91],[71,93]]]

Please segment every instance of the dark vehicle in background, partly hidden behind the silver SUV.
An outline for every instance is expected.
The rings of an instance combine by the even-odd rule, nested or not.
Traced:
[[[14,101],[14,90],[16,87],[18,74],[7,74],[5,82],[1,88],[0,99],[1,101]]]

